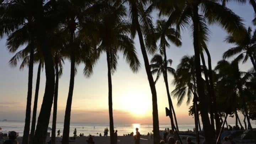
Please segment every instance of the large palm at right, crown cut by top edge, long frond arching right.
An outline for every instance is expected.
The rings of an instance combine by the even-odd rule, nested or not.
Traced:
[[[182,5],[183,4],[183,5]],[[241,18],[234,14],[230,9],[218,4],[213,0],[185,0],[174,11],[170,11],[168,23],[176,22],[178,31],[180,28],[190,26],[192,23],[193,46],[195,53],[195,66],[197,78],[197,91],[199,96],[200,107],[206,107],[206,96],[204,94],[204,85],[201,74],[200,49],[208,38],[207,23],[217,23],[222,26],[228,33],[238,36],[238,32],[242,29]],[[200,9],[199,9],[200,8]],[[200,11],[199,11],[200,10]],[[201,110],[201,118],[204,129],[209,129],[205,133],[206,143],[212,143],[214,138],[206,109]]]

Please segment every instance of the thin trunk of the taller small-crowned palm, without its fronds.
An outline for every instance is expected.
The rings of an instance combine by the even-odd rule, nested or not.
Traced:
[[[169,103],[169,109],[170,109],[170,118],[171,118],[171,125],[172,125],[172,130],[174,130],[174,120],[173,120],[173,117],[172,117],[172,112],[174,114],[174,118],[175,118],[175,123],[176,123],[176,128],[177,128],[177,131],[178,130],[178,123],[177,123],[177,118],[176,118],[176,114],[175,114],[175,111],[174,111],[174,107],[173,107],[173,104],[172,104],[172,100],[171,100],[171,96],[170,96],[170,92],[169,92],[169,86],[168,86],[168,78],[167,78],[167,60],[166,60],[166,50],[164,48],[164,65],[165,65],[165,70],[164,70],[164,81],[165,81],[165,87],[166,87],[166,92],[167,92],[167,97],[168,97],[168,103]]]

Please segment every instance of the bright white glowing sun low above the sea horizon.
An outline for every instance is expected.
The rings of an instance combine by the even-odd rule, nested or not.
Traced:
[[[140,93],[126,94],[122,98],[122,106],[135,116],[143,116],[150,111],[150,98]]]

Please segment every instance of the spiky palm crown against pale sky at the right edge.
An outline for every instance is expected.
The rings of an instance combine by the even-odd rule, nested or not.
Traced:
[[[241,39],[235,39],[234,36],[229,35],[226,37],[225,41],[228,43],[235,44],[235,47],[228,49],[223,54],[223,58],[230,58],[236,54],[239,54],[236,57],[236,60],[239,62],[242,60],[242,63],[247,62],[248,58],[250,58],[251,63],[256,71],[256,64],[255,64],[255,44],[256,44],[256,30],[254,31],[253,35],[251,34],[252,29],[248,27],[246,31],[246,35],[241,37]]]

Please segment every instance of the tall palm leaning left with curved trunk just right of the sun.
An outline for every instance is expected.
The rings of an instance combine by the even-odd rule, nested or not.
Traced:
[[[152,94],[152,105],[153,105],[153,133],[154,133],[154,144],[158,144],[160,141],[159,134],[159,120],[158,120],[158,105],[156,88],[154,79],[150,71],[150,65],[146,50],[150,53],[154,53],[156,50],[153,23],[151,21],[150,12],[145,11],[146,3],[143,0],[126,0],[130,12],[130,21],[132,23],[131,34],[135,37],[136,32],[138,33],[140,49],[142,51],[143,60],[145,64],[146,74],[148,76],[149,86]],[[145,38],[145,43],[144,39]],[[145,46],[146,44],[146,46]]]

